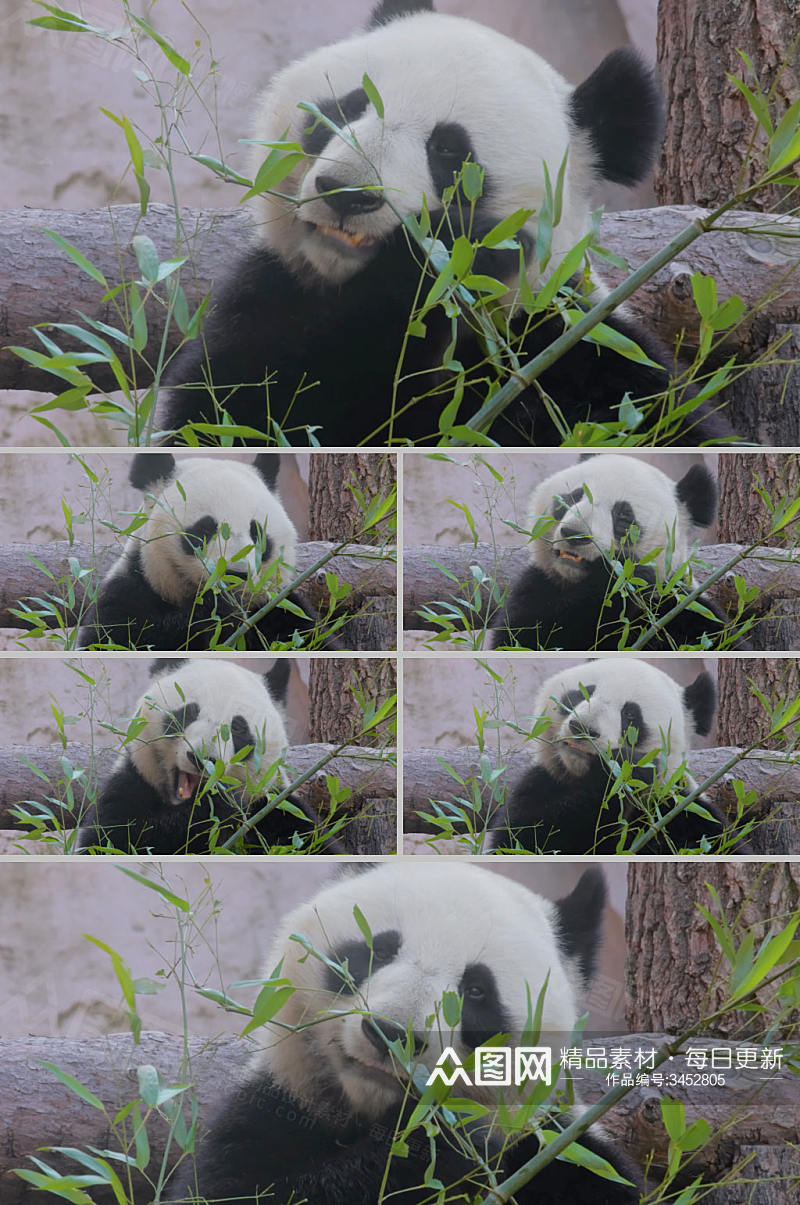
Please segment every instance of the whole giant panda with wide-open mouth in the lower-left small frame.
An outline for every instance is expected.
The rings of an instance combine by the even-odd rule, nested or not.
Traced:
[[[123,752],[76,837],[80,853],[208,853],[282,790],[275,770],[288,740],[283,722],[289,662],[261,675],[219,659],[151,666]],[[300,815],[298,815],[300,812]],[[318,817],[294,795],[245,839],[245,852],[343,853],[312,830]]]

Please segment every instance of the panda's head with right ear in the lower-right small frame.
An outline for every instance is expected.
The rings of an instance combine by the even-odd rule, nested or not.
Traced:
[[[711,731],[717,693],[708,674],[687,687],[633,657],[560,670],[542,686],[535,715],[551,721],[537,757],[557,776],[582,777],[601,754],[634,764],[655,751],[659,777],[684,760],[695,736]]]

